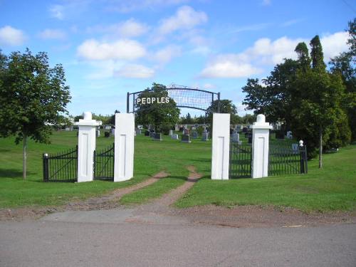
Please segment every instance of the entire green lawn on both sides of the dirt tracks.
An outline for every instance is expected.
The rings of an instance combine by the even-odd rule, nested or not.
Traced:
[[[356,146],[324,155],[324,169],[317,161],[309,162],[309,173],[268,177],[265,179],[210,179],[211,141],[193,140],[184,144],[164,136],[153,142],[143,135],[135,137],[135,177],[127,182],[44,183],[42,182],[43,152],[61,152],[74,147],[75,132],[53,132],[52,144],[29,142],[28,180],[22,180],[21,145],[11,138],[0,139],[0,207],[47,206],[64,204],[141,182],[161,170],[167,179],[133,192],[122,198],[123,204],[143,203],[159,197],[182,184],[189,165],[197,167],[203,178],[180,199],[176,206],[205,204],[223,206],[258,204],[291,206],[302,211],[355,210],[356,208]],[[98,137],[97,147],[112,144],[113,138]]]

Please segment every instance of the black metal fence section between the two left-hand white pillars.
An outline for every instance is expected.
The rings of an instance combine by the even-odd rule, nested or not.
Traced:
[[[104,150],[94,151],[94,179],[113,181],[115,144]]]

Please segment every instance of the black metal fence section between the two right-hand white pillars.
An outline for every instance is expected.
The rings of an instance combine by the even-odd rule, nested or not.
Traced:
[[[251,177],[251,162],[251,144],[230,142],[230,179]]]

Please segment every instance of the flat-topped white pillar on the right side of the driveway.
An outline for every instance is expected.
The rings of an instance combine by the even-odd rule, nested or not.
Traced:
[[[230,114],[213,114],[211,179],[229,179]]]

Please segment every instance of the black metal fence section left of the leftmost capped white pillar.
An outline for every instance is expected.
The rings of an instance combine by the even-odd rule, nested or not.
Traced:
[[[77,176],[78,146],[54,155],[43,154],[44,182],[76,182]]]

